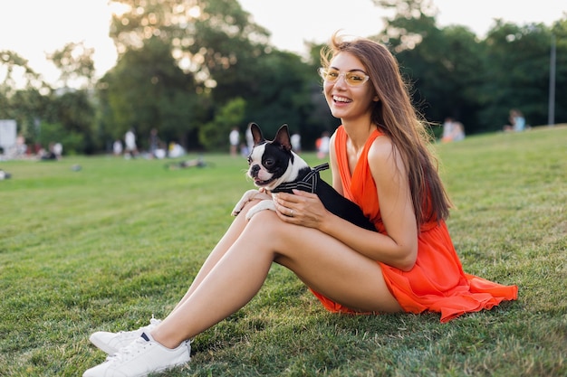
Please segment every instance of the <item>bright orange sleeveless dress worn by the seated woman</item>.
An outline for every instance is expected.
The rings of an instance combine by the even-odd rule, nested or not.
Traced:
[[[376,184],[368,164],[369,148],[374,139],[382,135],[375,130],[369,137],[352,175],[346,153],[347,134],[342,126],[336,131],[335,150],[344,196],[358,203],[376,229],[386,234],[380,217]],[[418,259],[413,269],[406,272],[377,263],[390,292],[406,312],[437,312],[441,314],[441,322],[465,313],[490,309],[503,300],[514,300],[518,296],[517,286],[503,286],[463,271],[445,221],[432,221],[421,226]],[[318,292],[313,293],[332,312],[356,313]]]

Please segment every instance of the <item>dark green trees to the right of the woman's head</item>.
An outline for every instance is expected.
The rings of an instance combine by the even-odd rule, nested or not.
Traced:
[[[497,20],[479,41],[462,26],[438,28],[431,0],[375,3],[394,11],[377,38],[396,54],[413,85],[414,101],[429,121],[452,116],[465,123],[469,134],[495,131],[507,122],[510,108],[520,108],[528,122],[546,123],[551,31],[545,25]],[[554,33],[561,34],[562,24]],[[564,47],[558,48],[560,72],[567,66]],[[565,82],[561,73],[557,82]],[[563,98],[559,94],[558,103]]]

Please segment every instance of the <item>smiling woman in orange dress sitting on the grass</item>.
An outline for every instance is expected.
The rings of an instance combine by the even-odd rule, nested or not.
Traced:
[[[137,339],[84,376],[143,375],[186,363],[188,339],[245,306],[273,262],[333,312],[435,311],[445,322],[517,297],[515,286],[463,272],[445,224],[447,193],[393,56],[376,42],[337,34],[330,47],[322,52],[323,92],[342,122],[331,139],[332,184],[378,232],[326,211],[312,193],[274,194],[277,212],[245,221],[255,204],[248,203],[167,318],[91,335],[107,353]]]

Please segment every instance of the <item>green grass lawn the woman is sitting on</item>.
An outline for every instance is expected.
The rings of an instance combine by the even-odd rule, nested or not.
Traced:
[[[165,375],[567,375],[566,141],[567,127],[542,127],[435,146],[464,269],[517,284],[517,301],[448,324],[333,315],[274,266]],[[244,159],[206,159],[215,166],[178,171],[113,157],[0,162],[13,174],[0,181],[0,376],[81,375],[104,360],[91,332],[168,314],[252,187]]]

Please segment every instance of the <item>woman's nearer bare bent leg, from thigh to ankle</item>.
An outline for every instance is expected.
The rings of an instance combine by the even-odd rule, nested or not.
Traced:
[[[375,261],[321,231],[284,223],[274,212],[263,211],[151,335],[173,348],[222,321],[255,297],[274,261],[345,306],[401,310]]]

